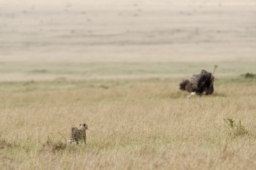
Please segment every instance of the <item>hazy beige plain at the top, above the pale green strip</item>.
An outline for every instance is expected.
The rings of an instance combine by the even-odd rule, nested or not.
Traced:
[[[256,61],[256,2],[0,1],[0,62]]]

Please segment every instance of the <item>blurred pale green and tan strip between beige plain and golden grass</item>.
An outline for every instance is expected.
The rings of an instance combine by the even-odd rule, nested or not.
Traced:
[[[220,67],[217,77],[256,73],[255,62],[88,62],[0,63],[0,81],[54,81],[88,79],[146,79],[191,77],[201,69]]]

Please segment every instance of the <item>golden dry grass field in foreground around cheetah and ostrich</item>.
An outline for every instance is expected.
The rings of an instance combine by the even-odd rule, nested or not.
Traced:
[[[0,167],[256,169],[255,79],[216,79],[201,101],[186,99],[179,81],[0,83]],[[233,133],[225,118],[248,134]],[[87,144],[66,145],[84,122]]]

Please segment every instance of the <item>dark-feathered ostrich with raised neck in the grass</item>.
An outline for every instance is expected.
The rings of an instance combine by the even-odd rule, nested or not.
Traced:
[[[205,70],[201,70],[201,73],[199,75],[193,75],[191,78],[191,81],[189,80],[183,80],[179,84],[180,89],[183,91],[188,91],[190,95],[188,96],[188,99],[192,95],[199,95],[201,98],[201,95],[211,95],[214,93],[214,72],[218,65],[214,66],[214,70],[212,73],[208,73]]]

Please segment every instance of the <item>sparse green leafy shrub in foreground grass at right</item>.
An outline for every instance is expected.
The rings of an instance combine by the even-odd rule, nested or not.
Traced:
[[[241,120],[236,123],[233,119],[224,119],[228,129],[230,130],[230,134],[234,137],[236,136],[244,136],[248,134],[248,130],[245,129],[245,126],[241,124]]]

